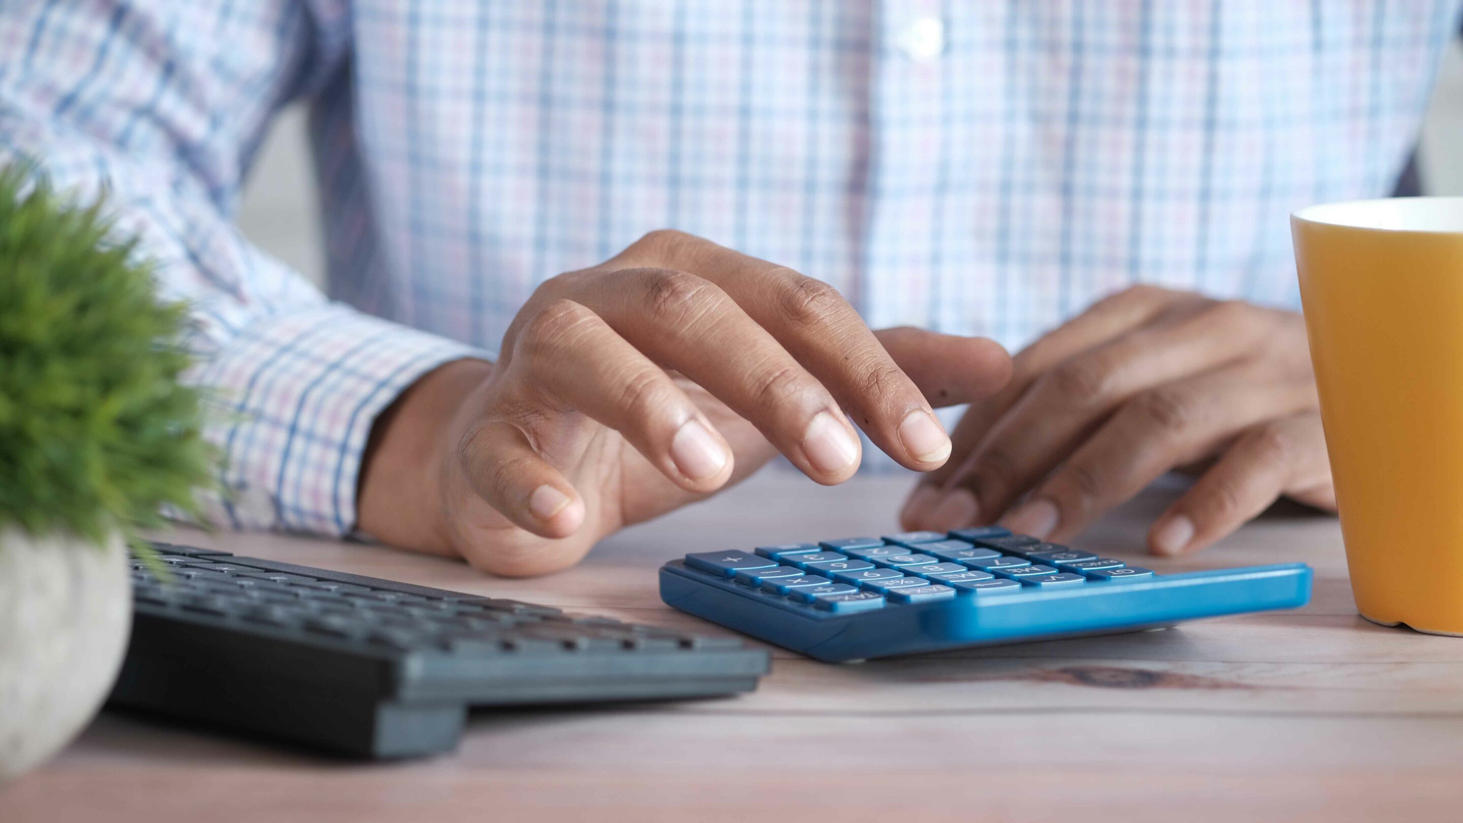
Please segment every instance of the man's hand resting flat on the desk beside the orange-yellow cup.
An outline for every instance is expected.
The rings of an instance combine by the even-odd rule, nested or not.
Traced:
[[[1160,474],[1210,463],[1148,532],[1154,554],[1219,540],[1280,495],[1336,510],[1301,315],[1138,286],[1017,354],[906,529],[999,521],[1064,540]]]

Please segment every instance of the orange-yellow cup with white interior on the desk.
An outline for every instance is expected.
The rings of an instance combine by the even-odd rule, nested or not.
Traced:
[[[1290,215],[1362,617],[1463,636],[1463,198]]]

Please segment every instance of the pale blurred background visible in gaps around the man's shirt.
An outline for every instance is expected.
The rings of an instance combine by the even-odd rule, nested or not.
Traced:
[[[1463,44],[1454,42],[1438,73],[1419,151],[1426,195],[1463,195]],[[256,161],[238,221],[244,233],[320,283],[323,258],[315,173],[304,135],[304,110],[275,123]]]

